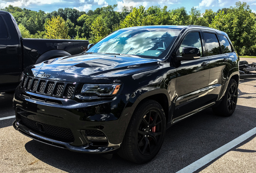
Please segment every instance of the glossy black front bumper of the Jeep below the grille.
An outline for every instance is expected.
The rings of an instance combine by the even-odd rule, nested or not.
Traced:
[[[13,127],[32,139],[70,151],[109,153],[120,147],[129,122],[127,113],[121,116],[123,100],[120,95],[109,101],[78,103],[17,89]]]

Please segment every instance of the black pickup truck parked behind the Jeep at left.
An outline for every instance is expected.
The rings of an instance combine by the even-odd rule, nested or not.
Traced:
[[[0,11],[0,92],[13,91],[26,66],[79,54],[87,49],[88,44],[87,40],[22,38],[13,16]]]

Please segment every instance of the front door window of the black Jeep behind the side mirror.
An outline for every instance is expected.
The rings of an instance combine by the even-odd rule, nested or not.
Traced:
[[[190,32],[186,35],[179,49],[180,56],[182,56],[182,49],[188,46],[199,48],[202,57],[202,43],[199,32]]]

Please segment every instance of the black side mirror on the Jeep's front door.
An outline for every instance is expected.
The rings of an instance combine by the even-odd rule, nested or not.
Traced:
[[[196,47],[184,47],[182,49],[182,56],[177,56],[177,60],[195,60],[201,56],[199,48]]]

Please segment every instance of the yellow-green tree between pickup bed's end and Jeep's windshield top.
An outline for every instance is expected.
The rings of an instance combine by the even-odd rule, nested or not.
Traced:
[[[98,42],[110,33],[110,29],[107,27],[107,24],[103,20],[102,16],[98,16],[96,20],[93,21],[91,24],[91,30],[94,43]]]

